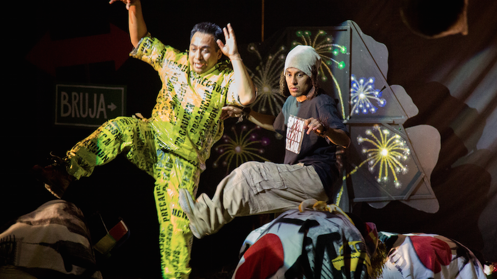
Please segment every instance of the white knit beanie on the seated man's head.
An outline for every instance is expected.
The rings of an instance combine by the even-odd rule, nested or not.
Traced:
[[[312,77],[312,69],[318,69],[320,63],[321,57],[313,47],[298,45],[288,52],[283,72],[288,68],[296,68]]]

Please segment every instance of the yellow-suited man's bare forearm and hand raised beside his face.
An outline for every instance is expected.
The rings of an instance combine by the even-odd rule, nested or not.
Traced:
[[[226,44],[223,44],[221,40],[217,40],[217,45],[223,54],[228,56],[233,65],[235,81],[234,88],[230,88],[230,90],[238,93],[242,105],[250,105],[256,100],[256,91],[254,83],[252,82],[250,75],[248,75],[245,65],[243,65],[240,53],[238,53],[235,33],[233,32],[230,23],[228,23],[227,27],[223,28],[223,32],[225,34]]]

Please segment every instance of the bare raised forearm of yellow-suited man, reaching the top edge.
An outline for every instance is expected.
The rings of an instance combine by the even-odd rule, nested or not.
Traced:
[[[140,40],[147,35],[147,25],[143,19],[140,0],[111,0],[109,4],[123,2],[128,10],[129,39],[133,47],[137,47]]]

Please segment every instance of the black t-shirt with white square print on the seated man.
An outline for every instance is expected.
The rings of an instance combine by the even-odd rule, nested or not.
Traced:
[[[315,133],[307,134],[307,129],[303,129],[303,122],[311,117],[326,122],[329,128],[347,132],[335,100],[322,90],[319,95],[303,102],[298,102],[295,97],[288,97],[274,120],[273,127],[286,137],[284,163],[314,166],[324,188],[330,190],[339,175],[335,165],[337,146]]]

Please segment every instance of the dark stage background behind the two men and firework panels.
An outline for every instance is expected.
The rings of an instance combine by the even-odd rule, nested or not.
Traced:
[[[261,42],[261,1],[143,2],[149,31],[180,50],[187,49],[189,30],[201,21],[221,26],[231,22],[240,48]],[[53,125],[56,84],[126,85],[126,114],[141,112],[145,117],[150,116],[160,88],[150,66],[127,56],[132,46],[127,37],[127,11],[121,3],[27,2],[23,9],[27,29],[19,29],[7,45],[7,55],[22,67],[11,73],[22,78],[14,89],[20,94],[12,93],[20,97],[16,101],[22,106],[9,106],[5,118],[10,124],[3,132],[9,167],[4,170],[2,204],[8,206],[2,210],[2,224],[50,198],[29,176],[29,169],[49,151],[63,155],[93,131]],[[398,1],[273,0],[265,1],[264,7],[266,40],[289,26],[355,21],[364,34],[388,47],[388,83],[402,85],[420,110],[404,126],[428,124],[441,135],[439,160],[431,176],[440,203],[437,213],[398,202],[382,209],[356,204],[354,212],[375,222],[379,230],[454,238],[481,259],[493,262],[497,261],[496,13],[497,2],[470,0],[467,36],[424,39],[402,23]],[[99,35],[112,36],[113,43],[92,43]],[[84,43],[68,43],[71,40]],[[271,148],[264,157],[281,161],[281,154],[282,149]],[[199,191],[212,194],[225,173],[212,168],[205,171]],[[102,262],[104,277],[159,277],[152,189],[151,177],[119,158],[97,168],[92,177],[77,181],[68,192],[67,199],[87,216],[97,211],[110,219],[120,216],[130,228],[130,238]],[[268,218],[239,218],[216,235],[196,239],[191,262],[194,274],[232,272],[243,238]]]

